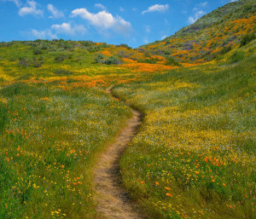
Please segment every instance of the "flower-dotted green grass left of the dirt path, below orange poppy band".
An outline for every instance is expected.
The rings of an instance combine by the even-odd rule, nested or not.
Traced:
[[[97,89],[0,90],[0,218],[99,218],[91,169],[130,109]]]

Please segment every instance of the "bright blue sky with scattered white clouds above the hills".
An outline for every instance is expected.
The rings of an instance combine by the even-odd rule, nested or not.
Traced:
[[[0,0],[0,42],[63,38],[138,47],[234,1]]]

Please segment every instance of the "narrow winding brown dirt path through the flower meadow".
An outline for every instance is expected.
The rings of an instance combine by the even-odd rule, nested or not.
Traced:
[[[108,93],[111,94],[110,87]],[[132,118],[127,121],[125,128],[121,130],[114,142],[109,145],[106,152],[102,153],[94,172],[96,182],[97,210],[106,218],[134,219],[144,218],[136,207],[131,204],[131,199],[121,187],[119,173],[119,159],[125,152],[127,143],[137,134],[137,128],[141,124],[142,115],[132,109]]]

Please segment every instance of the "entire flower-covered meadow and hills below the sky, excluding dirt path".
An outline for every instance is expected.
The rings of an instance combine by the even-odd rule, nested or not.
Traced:
[[[255,12],[229,3],[137,49],[0,43],[0,218],[102,218],[92,170],[127,102],[143,125],[121,173],[152,218],[255,218]]]

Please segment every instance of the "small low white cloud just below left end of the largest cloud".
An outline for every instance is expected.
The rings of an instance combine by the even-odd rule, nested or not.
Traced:
[[[55,30],[56,34],[67,34],[67,35],[76,35],[86,32],[86,29],[82,25],[71,26],[69,23],[62,23],[61,25],[53,25],[50,27],[52,30]]]

